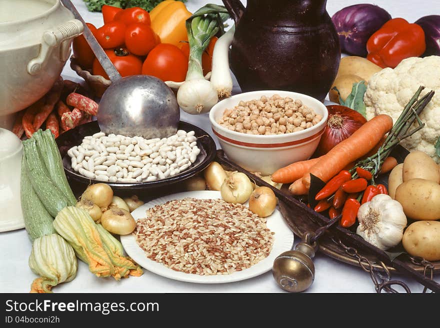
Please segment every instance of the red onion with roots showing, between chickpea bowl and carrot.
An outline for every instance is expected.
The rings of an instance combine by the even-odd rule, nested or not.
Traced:
[[[315,155],[326,154],[340,141],[345,140],[363,123],[365,117],[354,109],[341,105],[328,105],[327,126],[316,148]]]

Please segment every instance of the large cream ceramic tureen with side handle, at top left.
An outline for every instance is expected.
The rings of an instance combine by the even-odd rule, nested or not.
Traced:
[[[59,0],[0,0],[0,127],[43,96],[70,55],[82,23]]]

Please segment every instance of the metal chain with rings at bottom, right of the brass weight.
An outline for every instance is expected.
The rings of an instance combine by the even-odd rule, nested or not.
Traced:
[[[391,280],[391,275],[389,273],[389,270],[386,268],[386,265],[383,262],[380,262],[380,265],[385,270],[385,275],[380,273],[377,269],[373,267],[371,262],[363,255],[360,255],[357,252],[357,249],[354,247],[346,246],[339,238],[335,238],[334,236],[331,236],[330,239],[340,247],[342,247],[345,251],[345,253],[348,256],[354,257],[357,259],[357,262],[359,263],[359,266],[364,270],[365,272],[368,272],[371,278],[371,281],[374,284],[374,289],[376,292],[380,293],[383,290],[386,292],[392,292],[397,293],[398,291],[392,288],[392,285],[400,285],[405,289],[407,293],[410,293],[409,287],[402,281],[399,280]],[[380,281],[380,282],[379,282]]]

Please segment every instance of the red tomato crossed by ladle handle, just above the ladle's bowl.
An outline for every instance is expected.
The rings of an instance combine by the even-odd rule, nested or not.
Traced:
[[[128,53],[126,49],[107,49],[105,53],[122,77],[140,74],[142,70],[142,60],[134,54]],[[93,61],[93,75],[101,75],[108,79],[108,75],[97,59]]]

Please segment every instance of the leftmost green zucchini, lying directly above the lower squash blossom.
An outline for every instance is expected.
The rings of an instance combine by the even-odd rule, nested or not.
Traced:
[[[24,157],[21,160],[20,198],[24,226],[30,240],[33,241],[45,234],[56,232],[52,224],[53,217],[47,212],[32,188],[27,176]]]

